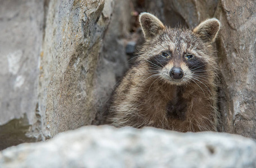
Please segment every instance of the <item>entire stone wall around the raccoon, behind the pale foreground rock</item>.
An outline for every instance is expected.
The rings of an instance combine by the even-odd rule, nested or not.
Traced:
[[[221,21],[220,130],[256,138],[253,1],[0,0],[0,150],[101,124],[127,69],[127,41],[141,44],[138,13],[170,25]]]

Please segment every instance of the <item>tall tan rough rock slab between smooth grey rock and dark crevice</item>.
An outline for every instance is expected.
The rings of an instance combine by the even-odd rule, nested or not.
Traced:
[[[112,13],[107,5],[102,13],[104,1],[49,3],[39,81],[39,111],[49,137],[95,118],[93,79]]]

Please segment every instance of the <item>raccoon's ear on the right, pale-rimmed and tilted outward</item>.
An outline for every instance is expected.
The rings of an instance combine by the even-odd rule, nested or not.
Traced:
[[[220,27],[221,23],[217,18],[210,18],[196,26],[193,32],[198,34],[204,41],[214,42]]]

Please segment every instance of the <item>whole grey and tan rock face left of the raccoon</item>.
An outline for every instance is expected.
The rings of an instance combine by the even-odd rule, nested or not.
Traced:
[[[126,4],[0,1],[0,150],[93,123],[127,67]]]

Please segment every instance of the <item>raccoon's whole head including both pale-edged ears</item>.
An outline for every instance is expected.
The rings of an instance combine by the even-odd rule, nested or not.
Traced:
[[[145,44],[138,58],[149,67],[152,77],[182,85],[205,81],[214,73],[216,61],[212,43],[220,29],[216,18],[194,30],[171,29],[150,13],[140,14]]]

